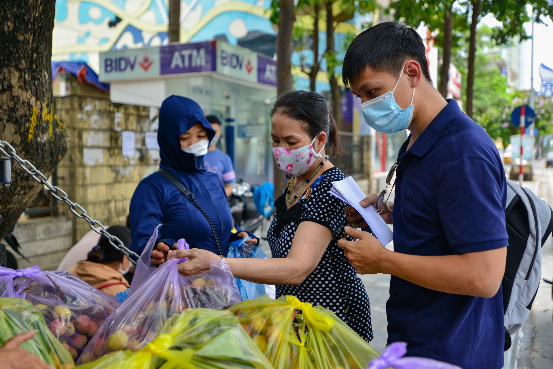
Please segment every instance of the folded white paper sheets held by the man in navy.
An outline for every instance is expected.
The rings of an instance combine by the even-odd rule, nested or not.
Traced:
[[[384,222],[380,214],[377,213],[376,209],[374,209],[374,206],[363,207],[359,204],[359,201],[367,196],[365,196],[351,176],[341,181],[332,182],[332,188],[328,193],[353,206],[363,216],[363,219],[371,227],[374,236],[382,242],[382,245],[386,246],[392,242],[394,233]]]

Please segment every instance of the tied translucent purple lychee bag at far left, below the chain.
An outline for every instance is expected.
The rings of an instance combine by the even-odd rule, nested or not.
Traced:
[[[119,305],[112,295],[71,273],[0,268],[0,295],[28,300],[43,314],[50,331],[78,358],[108,315]]]

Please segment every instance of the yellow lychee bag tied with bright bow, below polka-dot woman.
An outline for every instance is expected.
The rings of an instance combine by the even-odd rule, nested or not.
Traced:
[[[265,295],[230,310],[275,369],[361,369],[379,356],[330,310],[293,296]]]

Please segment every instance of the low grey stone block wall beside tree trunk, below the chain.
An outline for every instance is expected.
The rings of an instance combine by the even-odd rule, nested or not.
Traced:
[[[20,221],[13,235],[30,263],[7,246],[7,242],[2,242],[14,254],[19,268],[38,265],[43,270],[55,270],[67,250],[73,246],[72,228],[71,219],[63,216]]]

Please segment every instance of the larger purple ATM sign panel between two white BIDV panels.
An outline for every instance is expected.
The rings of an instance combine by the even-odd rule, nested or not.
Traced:
[[[213,72],[216,69],[215,41],[161,46],[161,74]]]

